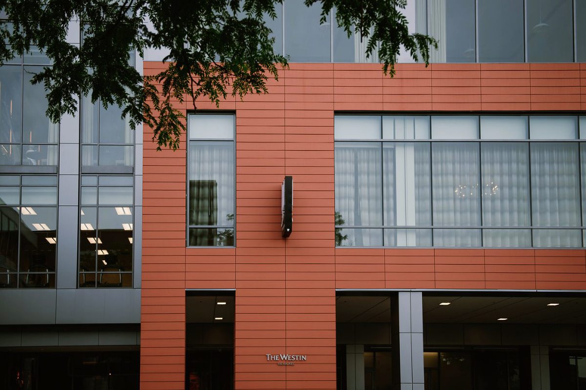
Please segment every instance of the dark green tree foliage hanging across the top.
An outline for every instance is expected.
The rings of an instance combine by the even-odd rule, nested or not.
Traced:
[[[80,95],[91,95],[104,107],[123,108],[132,127],[151,126],[159,149],[176,149],[185,125],[172,101],[187,96],[195,108],[195,99],[207,96],[218,104],[229,94],[242,98],[265,93],[268,78],[278,80],[287,58],[273,52],[274,39],[263,15],[275,18],[275,4],[281,2],[0,0],[7,18],[0,21],[6,42],[0,46],[0,63],[36,46],[53,62],[32,82],[45,85],[47,115],[54,122],[76,111]],[[335,8],[339,26],[349,36],[361,33],[367,53],[378,50],[383,71],[391,76],[401,46],[427,64],[429,48],[436,45],[428,36],[409,33],[401,13],[407,0],[304,2],[321,4],[322,22]],[[67,43],[70,20],[80,20],[79,46]],[[168,49],[167,65],[155,76],[142,77],[128,65],[130,51],[142,56],[149,47]]]

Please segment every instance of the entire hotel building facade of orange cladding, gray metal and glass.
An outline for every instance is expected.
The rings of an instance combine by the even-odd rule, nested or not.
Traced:
[[[586,388],[586,6],[410,1],[440,47],[393,78],[335,15],[277,11],[289,68],[268,94],[175,102],[177,151],[83,99],[42,158],[30,94],[0,119],[22,123],[2,139],[21,154],[1,167],[0,384]]]

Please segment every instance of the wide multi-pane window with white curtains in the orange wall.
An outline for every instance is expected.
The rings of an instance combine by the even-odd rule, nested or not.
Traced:
[[[582,247],[583,119],[337,115],[336,245]]]

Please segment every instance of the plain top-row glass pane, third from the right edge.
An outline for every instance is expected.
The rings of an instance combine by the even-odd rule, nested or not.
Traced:
[[[523,0],[478,0],[478,56],[485,63],[522,63]]]

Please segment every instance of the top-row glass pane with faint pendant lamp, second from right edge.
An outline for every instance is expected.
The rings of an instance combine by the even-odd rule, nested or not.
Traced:
[[[529,62],[561,63],[574,60],[572,8],[572,0],[527,0]]]

